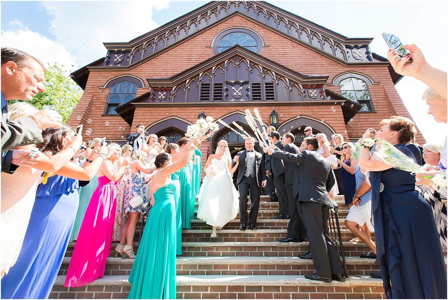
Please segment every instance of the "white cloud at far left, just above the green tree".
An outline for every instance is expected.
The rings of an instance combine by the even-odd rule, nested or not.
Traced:
[[[37,32],[23,26],[21,22],[11,22],[13,30],[1,31],[1,45],[17,48],[39,58],[44,64],[57,62],[64,65],[67,70],[73,69],[71,65],[78,67],[64,46],[47,39]]]

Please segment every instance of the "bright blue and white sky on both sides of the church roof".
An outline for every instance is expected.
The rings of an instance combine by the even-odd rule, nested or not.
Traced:
[[[448,70],[446,1],[268,2],[341,35],[373,37],[370,48],[383,57],[388,47],[381,33],[394,33],[404,43],[417,44],[431,65]],[[129,41],[206,3],[2,1],[0,43],[76,70],[105,56],[103,42]],[[439,132],[447,132],[448,127],[426,114],[426,105],[420,100],[424,88],[414,78],[404,78],[396,85],[426,140],[443,143]]]

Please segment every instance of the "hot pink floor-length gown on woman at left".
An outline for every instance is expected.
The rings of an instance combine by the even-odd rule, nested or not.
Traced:
[[[115,208],[116,183],[101,176],[79,230],[65,287],[81,287],[103,278],[112,245]]]

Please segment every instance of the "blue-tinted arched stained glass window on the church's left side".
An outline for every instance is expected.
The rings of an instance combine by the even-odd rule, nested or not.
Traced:
[[[125,80],[119,83],[115,83],[108,96],[108,101],[106,103],[105,114],[117,114],[115,109],[135,98],[137,93],[137,84]]]

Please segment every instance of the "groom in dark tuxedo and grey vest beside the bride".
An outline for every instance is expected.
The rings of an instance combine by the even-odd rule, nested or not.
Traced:
[[[246,230],[249,221],[250,229],[257,227],[258,206],[260,204],[261,187],[266,186],[266,169],[262,154],[254,150],[255,140],[247,138],[244,142],[245,151],[240,151],[233,157],[232,165],[239,160],[238,165],[238,191],[240,192],[240,230]],[[247,196],[250,191],[250,214],[247,217]]]

